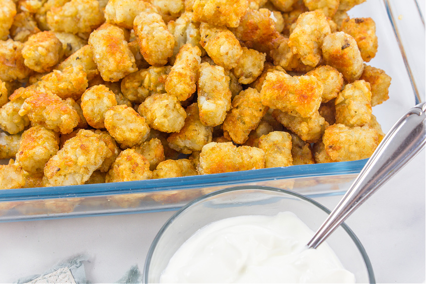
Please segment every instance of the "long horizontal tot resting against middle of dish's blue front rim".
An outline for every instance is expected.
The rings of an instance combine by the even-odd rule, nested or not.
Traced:
[[[232,142],[210,142],[202,147],[197,166],[198,174],[225,173],[265,168],[265,152]]]

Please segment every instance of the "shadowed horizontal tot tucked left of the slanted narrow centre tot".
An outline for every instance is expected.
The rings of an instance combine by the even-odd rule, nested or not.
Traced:
[[[130,101],[142,103],[150,95],[166,92],[164,84],[170,70],[170,66],[151,66],[133,72],[121,80],[121,91]]]

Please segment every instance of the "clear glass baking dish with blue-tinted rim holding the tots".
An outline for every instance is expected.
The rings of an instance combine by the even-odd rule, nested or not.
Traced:
[[[414,88],[418,84],[415,84],[403,43],[398,38],[392,5],[392,1],[367,0],[348,12],[351,18],[370,17],[376,23],[378,52],[368,65],[384,70],[392,78],[389,100],[373,107],[373,114],[384,132],[406,110],[424,100],[424,94],[418,94]],[[424,26],[419,28],[424,34]],[[422,50],[424,52],[424,48]],[[298,165],[105,184],[4,189],[0,190],[0,222],[175,210],[200,195],[231,185],[266,185],[311,197],[342,194],[365,162]]]

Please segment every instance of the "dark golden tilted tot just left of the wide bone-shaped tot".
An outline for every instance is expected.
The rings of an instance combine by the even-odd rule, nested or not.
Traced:
[[[231,112],[224,121],[224,136],[243,144],[256,129],[268,107],[262,105],[262,95],[252,88],[242,91],[232,101]]]

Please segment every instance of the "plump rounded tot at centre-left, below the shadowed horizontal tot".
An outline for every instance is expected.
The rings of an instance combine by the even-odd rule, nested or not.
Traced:
[[[177,98],[169,94],[149,96],[138,108],[149,127],[162,132],[178,132],[185,123],[186,113]]]

